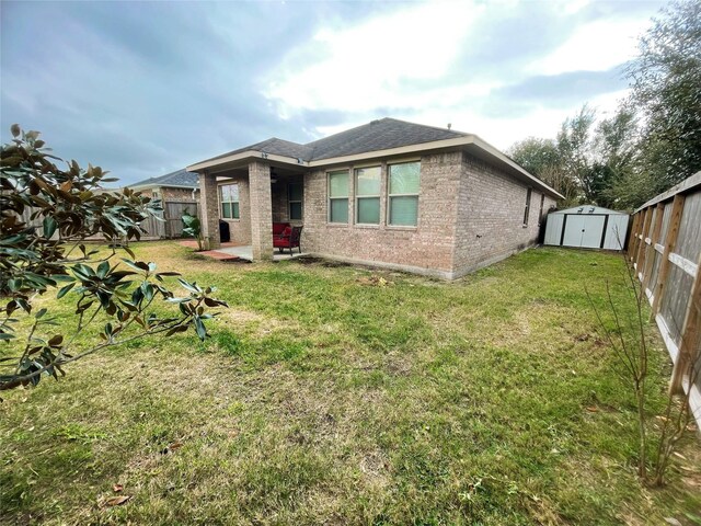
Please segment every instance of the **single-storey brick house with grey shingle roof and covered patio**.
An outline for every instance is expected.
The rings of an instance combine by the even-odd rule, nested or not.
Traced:
[[[277,138],[187,168],[203,230],[219,218],[253,259],[272,225],[302,225],[303,251],[456,278],[533,244],[558,192],[472,134],[393,118],[307,145]]]

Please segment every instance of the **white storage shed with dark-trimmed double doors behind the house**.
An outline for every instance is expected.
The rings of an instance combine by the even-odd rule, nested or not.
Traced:
[[[583,205],[548,215],[545,244],[579,249],[622,250],[628,233],[628,214]]]

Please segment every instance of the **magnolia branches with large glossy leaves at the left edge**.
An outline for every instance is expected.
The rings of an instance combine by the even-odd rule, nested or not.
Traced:
[[[11,133],[0,173],[0,390],[58,378],[70,362],[148,335],[193,328],[207,338],[208,310],[227,306],[214,288],[179,277],[185,294],[176,297],[165,278],[179,274],[137,261],[126,245],[145,233],[139,225],[160,202],[128,188],[100,192],[115,181],[107,172],[76,161],[61,169],[37,132],[13,125]],[[74,317],[59,323],[51,307],[34,307],[42,296],[70,302]],[[79,339],[87,330],[99,336]]]

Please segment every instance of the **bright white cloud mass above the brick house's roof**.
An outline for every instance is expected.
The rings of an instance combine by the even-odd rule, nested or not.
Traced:
[[[524,95],[503,101],[507,107],[518,106],[503,116],[494,116],[493,111],[486,115],[486,108],[499,105],[497,96],[507,96],[498,88],[518,85],[529,77],[608,71],[627,62],[635,56],[636,37],[647,27],[653,7],[648,13],[637,10],[583,22],[590,0],[555,2],[553,23],[572,28],[564,43],[533,61],[505,66],[496,77],[475,72],[456,82],[456,68],[461,73],[470,68],[457,64],[459,54],[476,45],[480,24],[498,26],[495,21],[508,19],[521,1],[411,5],[357,25],[325,27],[311,42],[288,50],[272,71],[265,95],[283,118],[324,110],[349,115],[344,122],[318,126],[312,132],[319,136],[367,123],[391,110],[390,116],[421,124],[451,123],[452,129],[475,133],[501,149],[528,136],[554,137],[561,123],[585,102],[601,117],[608,116],[627,91],[583,95],[570,107],[549,103],[547,95]],[[493,70],[499,71],[498,61],[495,66]]]

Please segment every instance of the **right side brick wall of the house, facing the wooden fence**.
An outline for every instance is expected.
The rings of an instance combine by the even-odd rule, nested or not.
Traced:
[[[531,191],[524,225],[528,185],[464,153],[458,194],[455,274],[460,276],[516,253],[538,241],[542,192]],[[545,195],[543,216],[554,199]]]

